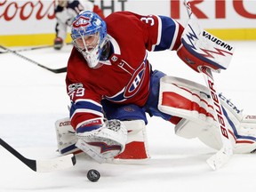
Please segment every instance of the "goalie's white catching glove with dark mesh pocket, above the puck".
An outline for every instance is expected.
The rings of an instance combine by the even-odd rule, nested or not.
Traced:
[[[127,130],[121,121],[114,119],[106,120],[96,130],[88,131],[88,127],[80,127],[76,129],[76,136],[76,147],[103,163],[124,151]]]

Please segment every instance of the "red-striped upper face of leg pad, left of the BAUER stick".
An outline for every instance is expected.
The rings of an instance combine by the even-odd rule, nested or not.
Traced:
[[[160,80],[158,108],[160,111],[196,122],[216,124],[209,90],[202,84],[174,76]]]

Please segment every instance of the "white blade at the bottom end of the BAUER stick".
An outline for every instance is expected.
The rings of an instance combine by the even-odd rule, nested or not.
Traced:
[[[218,170],[221,166],[228,163],[232,155],[232,148],[221,148],[216,154],[208,158],[206,162],[213,170]]]

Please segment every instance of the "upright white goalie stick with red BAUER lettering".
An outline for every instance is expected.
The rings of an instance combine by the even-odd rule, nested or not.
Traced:
[[[188,17],[191,20],[191,18],[195,16],[193,15],[193,12],[189,4],[190,3],[188,0],[184,0],[184,5],[186,6]],[[190,41],[190,43],[191,42],[192,41]],[[230,62],[231,57],[225,58],[224,54],[222,56],[224,57],[224,59],[221,58],[220,60],[217,60],[217,63],[222,62],[224,63],[224,65],[228,66],[228,63]],[[210,91],[212,106],[214,108],[214,113],[215,113],[215,119],[220,129],[220,139],[222,141],[222,148],[220,148],[220,150],[216,154],[214,154],[213,156],[211,156],[206,160],[207,164],[209,164],[213,170],[217,170],[223,164],[228,163],[229,159],[233,155],[233,147],[232,147],[231,141],[228,138],[228,129],[224,121],[224,115],[223,115],[222,107],[220,104],[220,97],[219,97],[219,94],[217,93],[216,85],[214,84],[212,70],[211,68],[201,67],[199,68],[199,71],[203,74],[205,84],[207,85]]]

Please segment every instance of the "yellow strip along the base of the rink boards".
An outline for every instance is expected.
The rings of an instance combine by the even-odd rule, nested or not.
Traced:
[[[222,40],[256,40],[256,28],[214,28],[205,29],[213,36],[218,36]],[[32,34],[32,35],[12,35],[0,36],[0,44],[4,46],[35,46],[53,44],[55,34]],[[71,42],[68,34],[66,43]]]

